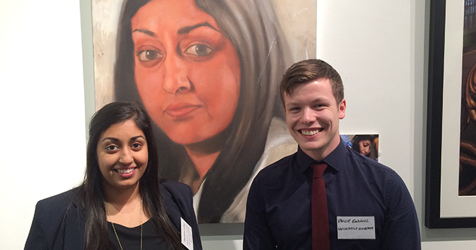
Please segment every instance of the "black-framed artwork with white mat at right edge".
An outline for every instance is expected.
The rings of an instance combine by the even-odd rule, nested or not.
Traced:
[[[430,4],[427,228],[476,227],[475,14],[475,1]]]

